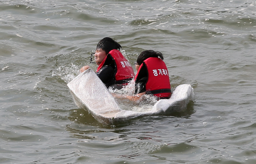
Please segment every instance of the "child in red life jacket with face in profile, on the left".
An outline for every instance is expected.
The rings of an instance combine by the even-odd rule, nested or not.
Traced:
[[[99,66],[96,74],[107,88],[113,86],[121,89],[135,76],[131,64],[120,53],[120,48],[122,46],[119,43],[106,37],[99,41],[94,53],[96,61],[94,63]],[[80,69],[80,72],[84,72],[88,68],[90,67],[86,65]]]

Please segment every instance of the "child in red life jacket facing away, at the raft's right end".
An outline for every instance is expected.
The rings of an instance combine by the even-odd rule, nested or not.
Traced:
[[[160,58],[159,58],[160,57]],[[169,99],[171,86],[169,73],[162,53],[153,50],[143,51],[137,59],[135,76],[135,96],[125,96],[138,100],[144,94],[153,94],[158,99]]]

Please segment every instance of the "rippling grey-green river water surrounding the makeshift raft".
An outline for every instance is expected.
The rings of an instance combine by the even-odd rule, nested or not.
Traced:
[[[3,0],[0,11],[1,164],[256,163],[254,0]],[[172,89],[191,84],[194,102],[114,126],[79,109],[66,84],[96,70],[104,37],[131,63],[162,52]]]

